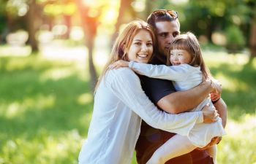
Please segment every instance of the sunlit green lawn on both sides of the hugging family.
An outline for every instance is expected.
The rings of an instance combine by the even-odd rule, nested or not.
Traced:
[[[93,109],[85,60],[1,56],[1,50],[0,163],[78,163]],[[255,164],[256,59],[204,54],[229,110],[219,163]]]

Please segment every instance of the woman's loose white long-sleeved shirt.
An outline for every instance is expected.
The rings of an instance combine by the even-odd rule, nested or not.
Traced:
[[[154,128],[187,134],[203,122],[202,112],[167,114],[149,101],[140,79],[129,68],[110,70],[94,97],[94,112],[80,164],[131,163],[141,118]]]

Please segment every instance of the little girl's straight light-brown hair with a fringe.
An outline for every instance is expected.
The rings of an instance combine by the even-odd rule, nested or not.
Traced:
[[[169,53],[167,55],[167,65],[170,66],[170,51],[171,50],[187,50],[192,57],[190,66],[200,66],[200,70],[203,73],[203,81],[211,77],[211,73],[203,61],[203,56],[200,50],[200,44],[197,41],[197,37],[191,32],[176,36],[173,42],[170,44]]]

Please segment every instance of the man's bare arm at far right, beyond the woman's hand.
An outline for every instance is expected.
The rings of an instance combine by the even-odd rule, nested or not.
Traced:
[[[223,126],[223,128],[225,128],[226,123],[227,123],[227,105],[225,104],[223,99],[220,98],[219,101],[217,101],[214,104],[214,106],[219,113],[219,117],[222,118],[222,126]]]

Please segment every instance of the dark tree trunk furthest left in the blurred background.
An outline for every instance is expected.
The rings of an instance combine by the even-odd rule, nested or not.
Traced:
[[[27,15],[27,25],[28,25],[28,32],[29,32],[29,44],[31,46],[32,52],[38,51],[38,42],[36,39],[36,32],[37,32],[37,4],[36,0],[31,0],[29,2],[29,12]],[[34,53],[32,53],[34,54]]]

